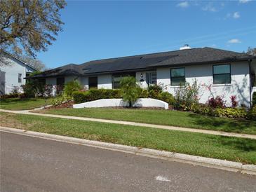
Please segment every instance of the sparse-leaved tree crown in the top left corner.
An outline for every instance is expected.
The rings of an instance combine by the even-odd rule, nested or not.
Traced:
[[[0,0],[0,48],[35,57],[62,30],[65,0]]]

